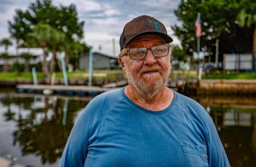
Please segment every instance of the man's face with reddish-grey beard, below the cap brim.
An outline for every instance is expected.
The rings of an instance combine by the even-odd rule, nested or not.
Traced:
[[[151,48],[165,44],[165,40],[160,36],[143,35],[129,42],[125,49]],[[170,75],[170,52],[167,56],[155,57],[151,50],[147,50],[146,57],[140,60],[131,59],[129,53],[127,53],[123,58],[123,63],[121,62],[121,66],[130,84],[140,92],[146,93],[159,90]],[[150,72],[155,70],[156,72]]]

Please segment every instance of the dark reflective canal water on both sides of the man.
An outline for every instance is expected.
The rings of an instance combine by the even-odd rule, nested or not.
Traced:
[[[0,156],[24,166],[58,166],[74,122],[92,98],[0,89]],[[212,117],[230,165],[256,167],[256,97],[191,98]]]

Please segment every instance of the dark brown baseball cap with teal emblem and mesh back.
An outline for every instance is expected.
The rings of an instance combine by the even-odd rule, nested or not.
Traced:
[[[142,15],[136,17],[124,26],[123,33],[119,40],[120,51],[123,50],[126,44],[133,38],[145,34],[162,36],[166,43],[171,43],[173,41],[172,38],[167,35],[167,31],[163,23],[151,16]]]

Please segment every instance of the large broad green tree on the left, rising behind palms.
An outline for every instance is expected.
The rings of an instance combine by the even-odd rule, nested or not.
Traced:
[[[65,34],[66,40],[73,42],[74,36],[76,36],[78,40],[82,37],[84,21],[78,22],[76,6],[74,4],[71,4],[69,6],[60,5],[59,7],[57,7],[54,6],[52,4],[52,1],[50,0],[37,0],[35,3],[31,3],[25,11],[16,10],[13,22],[8,21],[8,24],[11,36],[16,38],[18,41],[22,41],[22,43],[28,42],[28,34],[30,34],[31,32],[35,33],[34,28],[38,24],[50,25],[50,27],[58,30],[57,36],[63,36],[60,35],[60,32],[62,32]],[[33,37],[36,38],[36,36]],[[61,37],[59,39],[63,38]],[[43,47],[44,50],[48,48],[49,50],[56,52],[58,51],[58,46],[60,44],[61,41],[52,42],[48,40],[48,42],[38,42],[37,46]],[[55,60],[52,60],[51,64],[55,64],[54,61]],[[43,70],[45,76],[48,76],[48,72],[46,70],[47,62],[44,61],[42,63],[42,66],[45,69]],[[52,66],[50,67],[50,71],[52,72],[53,68]]]

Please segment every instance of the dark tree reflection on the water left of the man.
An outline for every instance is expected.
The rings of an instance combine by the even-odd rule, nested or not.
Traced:
[[[69,133],[88,100],[68,100],[56,97],[17,97],[21,94],[5,93],[0,101],[7,106],[5,121],[15,121],[13,145],[19,145],[22,156],[33,154],[41,163],[54,164],[61,157]],[[11,105],[18,106],[17,115]],[[68,112],[67,112],[68,111]],[[0,132],[1,133],[1,132]]]

